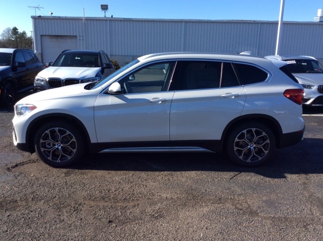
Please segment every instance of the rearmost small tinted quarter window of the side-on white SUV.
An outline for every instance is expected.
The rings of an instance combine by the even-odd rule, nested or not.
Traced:
[[[267,72],[250,64],[235,63],[235,67],[241,85],[264,82],[268,77]]]

